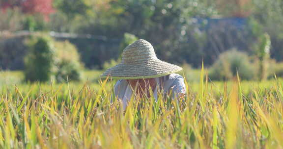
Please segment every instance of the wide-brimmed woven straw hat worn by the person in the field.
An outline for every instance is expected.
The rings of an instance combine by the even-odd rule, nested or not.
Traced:
[[[106,70],[101,77],[109,75],[118,79],[154,78],[181,70],[179,66],[159,60],[152,45],[139,39],[123,50],[121,63]]]

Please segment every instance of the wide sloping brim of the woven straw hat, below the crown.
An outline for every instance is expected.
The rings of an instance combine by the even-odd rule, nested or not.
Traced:
[[[179,66],[155,59],[141,64],[120,63],[106,70],[100,77],[106,78],[109,76],[113,79],[155,78],[170,75],[181,70],[182,68]]]

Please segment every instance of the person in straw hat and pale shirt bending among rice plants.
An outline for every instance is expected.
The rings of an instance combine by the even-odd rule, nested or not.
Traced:
[[[114,86],[115,96],[122,100],[125,109],[136,88],[136,97],[150,97],[152,89],[155,100],[161,92],[172,93],[172,97],[183,96],[186,92],[184,78],[174,74],[182,68],[159,60],[152,45],[137,40],[127,46],[122,53],[120,64],[106,70],[101,77],[120,79]]]

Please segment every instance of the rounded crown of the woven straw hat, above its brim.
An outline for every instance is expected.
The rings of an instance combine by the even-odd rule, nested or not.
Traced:
[[[122,53],[122,63],[141,64],[157,59],[152,45],[143,39],[127,46]]]

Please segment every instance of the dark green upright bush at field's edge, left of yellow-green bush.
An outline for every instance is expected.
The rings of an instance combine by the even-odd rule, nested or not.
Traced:
[[[54,67],[52,39],[46,36],[36,37],[29,41],[28,47],[28,54],[24,60],[26,80],[48,81]]]

